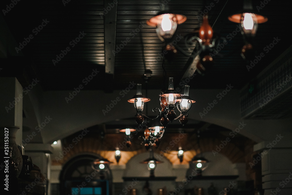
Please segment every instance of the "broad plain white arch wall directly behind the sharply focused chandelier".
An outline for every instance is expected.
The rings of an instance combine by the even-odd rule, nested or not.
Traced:
[[[292,137],[289,132],[292,127],[290,120],[242,120],[239,112],[239,90],[232,89],[219,100],[217,96],[222,91],[223,89],[190,90],[190,96],[196,100],[196,103],[189,112],[189,118],[216,124],[230,130],[235,130],[240,123],[244,123],[246,125],[239,133],[256,142],[274,140],[274,137],[280,133],[284,133],[287,138]],[[136,94],[135,87],[127,94],[122,90],[113,93],[81,90],[76,96],[73,96],[71,101],[66,101],[65,98],[69,97],[69,93],[72,92],[73,90],[43,93],[43,98],[40,101],[40,118],[47,116],[52,118],[42,130],[44,143],[52,143],[86,127],[130,118],[136,114],[133,104],[127,102]],[[142,93],[145,94],[145,90]],[[159,90],[148,90],[151,99],[148,102],[149,115],[152,108],[160,106],[159,93]],[[102,110],[106,110],[107,105],[115,99],[120,101],[117,101],[116,105],[104,114]],[[204,108],[214,100],[217,100],[218,103],[205,116],[201,117],[200,112],[203,113]],[[31,101],[34,103],[38,100]],[[144,113],[146,112],[144,111]]]

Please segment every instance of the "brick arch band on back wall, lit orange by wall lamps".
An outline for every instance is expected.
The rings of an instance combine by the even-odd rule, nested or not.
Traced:
[[[157,149],[154,149],[154,153],[165,156],[173,165],[188,164],[189,161],[191,161],[191,159],[199,153],[198,143],[195,135],[183,135],[184,134],[181,133],[165,134],[164,137],[162,137],[161,139],[161,144],[159,145],[159,147]],[[75,142],[72,142],[75,136],[76,134],[73,134],[62,140],[62,151],[66,154],[63,158],[59,159],[53,157],[53,165],[62,165],[72,157],[83,153],[96,154],[108,159],[114,164],[117,164],[114,158],[114,150],[117,145],[124,144],[124,134],[106,134],[105,139],[101,139],[96,135],[89,135],[87,137],[84,136],[84,138],[78,141],[77,144],[75,144]],[[215,151],[216,146],[220,146],[220,144],[222,144],[221,141],[225,139],[226,137],[224,136],[201,137],[201,152],[204,153]],[[249,144],[252,147],[253,144]],[[177,157],[178,148],[180,146],[185,151],[182,163],[180,163]],[[67,152],[65,151],[65,148],[70,148],[70,150]],[[167,148],[168,150],[166,150]],[[144,146],[141,146],[140,144],[133,143],[130,149],[127,149],[126,146],[124,146],[124,148],[121,149],[121,159],[119,161],[119,165],[125,165],[133,156],[136,156],[145,151],[146,149],[144,148]],[[234,143],[234,140],[228,142],[226,146],[224,146],[219,151],[219,153],[226,156],[232,163],[246,162],[246,152],[240,149],[239,146]]]

